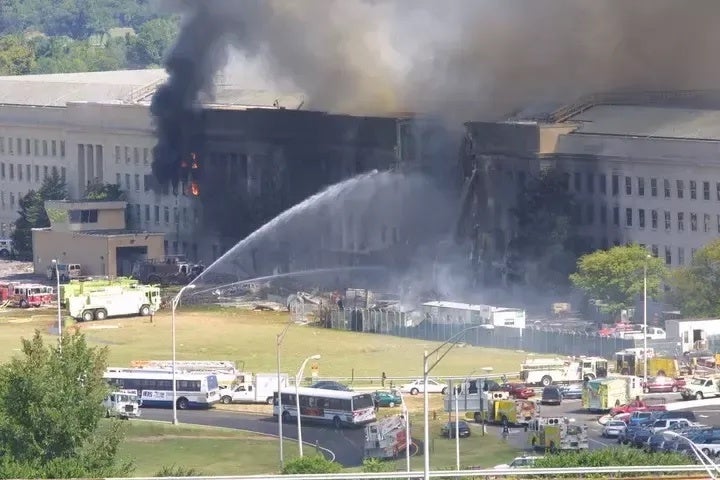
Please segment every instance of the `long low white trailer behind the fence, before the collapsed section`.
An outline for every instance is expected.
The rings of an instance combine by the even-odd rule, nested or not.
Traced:
[[[525,328],[525,310],[519,308],[434,301],[423,303],[422,311],[434,324]]]

